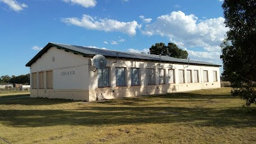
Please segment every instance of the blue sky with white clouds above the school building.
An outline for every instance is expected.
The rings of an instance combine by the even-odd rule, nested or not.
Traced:
[[[0,0],[0,76],[26,67],[48,42],[148,52],[173,42],[191,60],[221,65],[221,0]]]

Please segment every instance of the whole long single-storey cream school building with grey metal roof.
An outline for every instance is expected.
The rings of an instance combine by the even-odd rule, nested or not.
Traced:
[[[95,55],[106,58],[96,68]],[[220,65],[49,43],[30,60],[31,97],[96,100],[220,88]]]

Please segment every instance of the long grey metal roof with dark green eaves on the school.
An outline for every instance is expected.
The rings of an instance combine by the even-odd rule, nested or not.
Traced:
[[[160,56],[155,54],[140,54],[140,53],[132,53],[132,52],[123,52],[123,51],[113,51],[108,49],[97,49],[92,47],[83,47],[77,45],[67,45],[67,44],[57,44],[50,42],[47,44],[44,49],[42,49],[34,58],[32,58],[27,64],[26,67],[30,67],[35,61],[40,58],[45,52],[48,51],[51,47],[57,47],[57,49],[64,49],[65,51],[74,52],[75,54],[81,54],[83,56],[95,56],[96,54],[102,54],[106,57],[116,58],[116,52],[118,52],[118,58],[128,58],[135,60],[150,60],[150,61],[159,61]],[[170,63],[188,63],[186,59],[173,58],[170,56],[161,56],[161,61],[166,61]],[[214,63],[207,63],[204,61],[193,61],[189,60],[190,64],[197,65],[211,65],[215,67],[220,67],[221,65],[216,65]]]

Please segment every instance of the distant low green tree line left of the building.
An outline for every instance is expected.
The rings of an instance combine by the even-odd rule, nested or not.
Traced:
[[[30,84],[30,74],[26,74],[26,75],[20,75],[20,76],[1,76],[0,77],[0,84],[4,84],[4,83],[18,83],[18,84]]]

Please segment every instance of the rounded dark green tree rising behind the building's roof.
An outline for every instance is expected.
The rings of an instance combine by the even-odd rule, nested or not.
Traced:
[[[188,52],[180,49],[173,43],[168,43],[166,46],[163,42],[156,43],[149,48],[149,54],[157,54],[161,56],[171,56],[173,58],[188,58]]]

